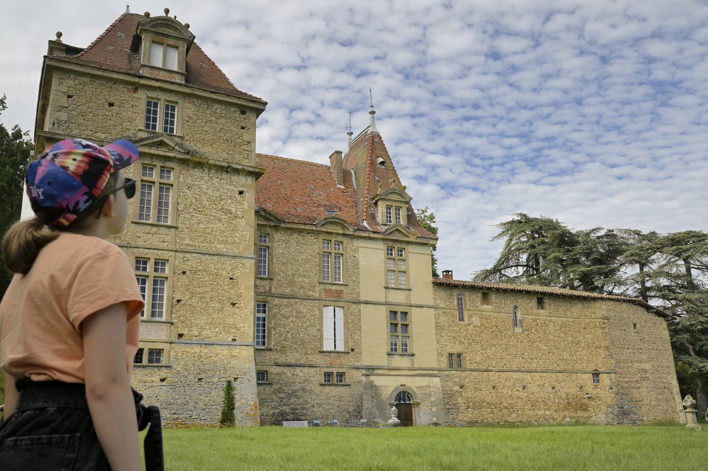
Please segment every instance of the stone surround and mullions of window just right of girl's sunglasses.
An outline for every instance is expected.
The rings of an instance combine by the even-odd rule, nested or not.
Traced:
[[[144,177],[142,176],[142,166],[151,166],[154,168],[154,176]],[[157,157],[140,157],[137,159],[135,164],[132,165],[135,169],[133,171],[133,179],[135,180],[135,197],[133,198],[133,208],[132,208],[132,221],[137,224],[151,224],[167,227],[177,226],[177,195],[179,193],[179,165],[175,161],[163,161]],[[171,180],[162,180],[160,177],[160,170],[171,170],[172,178]],[[152,184],[152,211],[150,214],[149,221],[142,221],[138,219],[139,206],[140,206],[140,186],[142,183]],[[156,222],[157,218],[157,204],[158,204],[158,193],[159,186],[171,186],[170,194],[170,211],[169,211],[169,222]]]

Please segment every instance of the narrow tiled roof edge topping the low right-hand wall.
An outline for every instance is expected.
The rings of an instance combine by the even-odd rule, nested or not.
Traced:
[[[637,298],[629,296],[616,296],[616,295],[601,295],[598,293],[588,293],[586,291],[576,291],[576,290],[566,290],[565,288],[555,288],[554,286],[542,286],[542,285],[515,285],[513,283],[482,283],[479,281],[467,281],[467,280],[452,280],[450,278],[433,278],[433,283],[436,285],[445,286],[459,286],[460,288],[477,288],[481,290],[500,290],[500,291],[516,291],[522,293],[537,293],[539,295],[556,295],[556,296],[566,296],[566,297],[582,297],[585,299],[594,300],[609,300],[609,301],[624,301],[632,302],[636,305],[646,308],[649,312],[654,312],[660,317],[671,317],[677,319],[677,317],[672,314],[668,314],[658,307],[652,306],[647,302]]]

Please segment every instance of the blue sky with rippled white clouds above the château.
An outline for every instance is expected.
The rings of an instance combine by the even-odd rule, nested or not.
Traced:
[[[329,164],[376,123],[439,227],[440,270],[491,266],[516,212],[571,228],[706,230],[706,1],[141,1],[190,23],[268,101],[256,152]],[[33,132],[47,40],[86,47],[115,1],[4,2],[6,126]],[[42,14],[37,14],[42,12]],[[32,18],[28,21],[26,18]],[[31,28],[29,28],[31,26]]]

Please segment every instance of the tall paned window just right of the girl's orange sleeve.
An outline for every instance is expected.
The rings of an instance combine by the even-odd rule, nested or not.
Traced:
[[[145,309],[140,312],[140,317],[145,317],[145,312],[149,312],[150,319],[165,319],[167,317],[169,261],[135,257],[134,268],[135,280],[137,280],[140,294],[145,302]]]

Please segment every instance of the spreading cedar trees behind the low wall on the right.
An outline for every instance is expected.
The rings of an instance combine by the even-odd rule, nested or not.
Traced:
[[[497,225],[498,259],[478,281],[526,283],[639,297],[674,314],[671,344],[682,390],[708,392],[708,234],[569,229],[518,213]],[[690,381],[690,385],[687,383]],[[704,398],[704,396],[703,396]],[[701,404],[699,404],[701,405]],[[702,409],[705,409],[703,405]]]

